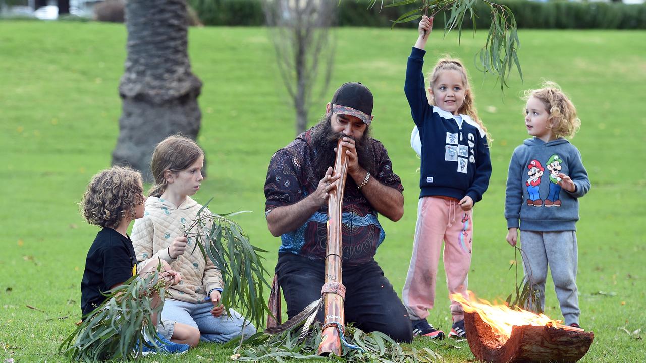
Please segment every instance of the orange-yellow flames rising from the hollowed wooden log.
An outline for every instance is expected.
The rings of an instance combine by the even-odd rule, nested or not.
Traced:
[[[544,314],[532,313],[520,308],[511,309],[505,304],[491,304],[486,300],[475,298],[475,295],[468,291],[469,300],[460,294],[452,294],[451,300],[459,302],[464,311],[478,313],[482,320],[489,324],[494,333],[498,336],[501,344],[512,335],[512,326],[557,326],[559,320],[552,320]]]

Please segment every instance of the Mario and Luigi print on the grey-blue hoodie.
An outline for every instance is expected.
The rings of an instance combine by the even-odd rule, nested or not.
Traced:
[[[559,199],[559,194],[561,193],[561,185],[558,183],[561,182],[561,178],[558,177],[558,174],[561,172],[563,167],[561,164],[563,160],[559,158],[557,154],[553,154],[547,160],[547,165],[545,168],[541,165],[541,162],[534,159],[527,164],[527,181],[525,185],[527,187],[527,205],[534,205],[534,207],[560,207],[561,200]],[[545,198],[545,201],[541,200],[539,195],[539,185],[541,184],[541,176],[545,172],[545,169],[549,172],[549,187],[550,192]]]

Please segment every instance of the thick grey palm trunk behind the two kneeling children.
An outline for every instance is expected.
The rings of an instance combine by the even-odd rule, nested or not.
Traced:
[[[125,6],[128,55],[112,165],[130,165],[149,182],[155,145],[177,132],[195,139],[200,131],[202,81],[191,72],[186,19],[185,0],[129,0]]]

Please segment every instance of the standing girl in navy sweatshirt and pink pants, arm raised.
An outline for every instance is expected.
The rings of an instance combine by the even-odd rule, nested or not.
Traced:
[[[444,241],[444,269],[450,294],[466,294],[471,265],[474,203],[485,193],[491,161],[485,125],[477,116],[474,94],[461,61],[439,59],[429,78],[422,74],[424,47],[432,18],[422,17],[419,37],[406,68],[404,92],[421,140],[421,180],[413,254],[402,291],[413,335],[444,338],[426,317],[435,300],[435,280]],[[464,338],[464,311],[451,302],[450,337]]]

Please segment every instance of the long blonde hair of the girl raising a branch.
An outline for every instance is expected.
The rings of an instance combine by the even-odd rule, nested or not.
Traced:
[[[480,126],[480,128],[483,129],[486,134],[487,143],[491,145],[491,141],[493,141],[491,134],[489,134],[489,132],[487,131],[485,123],[483,123],[483,120],[479,118],[478,111],[477,109],[475,109],[474,90],[471,88],[469,74],[468,72],[466,72],[464,63],[460,59],[452,58],[446,55],[438,59],[437,63],[435,63],[435,66],[433,67],[433,70],[431,70],[431,72],[428,74],[428,83],[430,88],[433,88],[433,85],[435,84],[435,82],[437,82],[437,78],[439,78],[440,76],[440,72],[443,70],[456,70],[462,76],[462,83],[464,86],[464,103],[462,104],[460,109],[457,110],[457,112],[459,114],[464,114],[472,118]],[[436,106],[435,98],[433,98],[432,92],[429,92],[428,98],[430,104]]]

